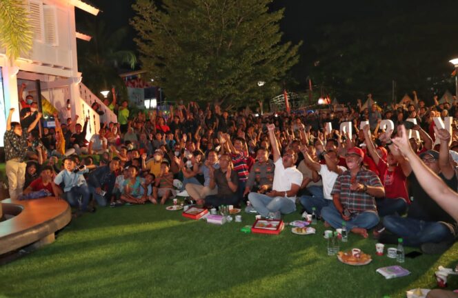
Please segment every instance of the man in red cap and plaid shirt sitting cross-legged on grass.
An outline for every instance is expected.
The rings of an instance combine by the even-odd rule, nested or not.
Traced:
[[[334,204],[323,208],[321,217],[333,228],[345,221],[348,230],[367,238],[367,229],[379,223],[375,197],[384,197],[385,189],[375,172],[361,167],[363,150],[350,148],[345,159],[348,170],[337,177],[331,192]]]

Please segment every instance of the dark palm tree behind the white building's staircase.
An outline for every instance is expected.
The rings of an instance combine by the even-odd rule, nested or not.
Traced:
[[[128,29],[121,27],[115,32],[108,32],[103,21],[86,23],[86,31],[92,39],[78,41],[79,70],[83,72],[83,83],[99,95],[100,90],[108,90],[111,86],[121,91],[127,98],[126,85],[119,77],[119,67],[128,65],[135,68],[137,57],[130,50],[120,50]]]

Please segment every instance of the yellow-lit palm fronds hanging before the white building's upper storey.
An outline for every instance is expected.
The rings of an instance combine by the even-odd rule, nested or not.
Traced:
[[[33,32],[28,10],[21,0],[0,1],[0,47],[6,49],[10,63],[32,49]]]

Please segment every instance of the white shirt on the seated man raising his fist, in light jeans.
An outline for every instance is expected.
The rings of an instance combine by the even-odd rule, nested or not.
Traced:
[[[272,183],[272,190],[285,192],[291,190],[291,184],[301,186],[302,173],[297,170],[296,166],[285,168],[283,166],[283,159],[279,158],[275,161],[274,182]],[[288,197],[293,202],[296,202],[296,196]]]

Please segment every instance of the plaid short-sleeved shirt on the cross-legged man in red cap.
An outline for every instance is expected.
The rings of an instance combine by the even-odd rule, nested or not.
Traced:
[[[347,170],[342,175],[337,177],[332,188],[331,195],[340,195],[340,201],[342,206],[351,213],[360,213],[364,211],[375,211],[377,212],[377,206],[375,204],[375,197],[368,195],[366,192],[355,192],[350,190],[351,174]],[[379,177],[370,170],[361,168],[356,175],[357,183],[365,184],[366,186],[382,186]]]

